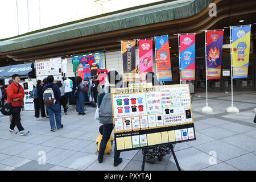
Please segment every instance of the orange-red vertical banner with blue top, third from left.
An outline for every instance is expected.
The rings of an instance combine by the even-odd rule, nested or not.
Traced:
[[[168,35],[155,38],[156,69],[159,81],[172,81],[172,67]]]

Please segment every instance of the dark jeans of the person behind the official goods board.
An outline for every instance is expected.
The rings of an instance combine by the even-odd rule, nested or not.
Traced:
[[[113,124],[104,124],[103,125],[103,136],[101,139],[100,151],[98,152],[99,156],[104,155],[104,152],[106,150],[106,144],[109,141],[109,138],[110,138],[113,128],[114,128]],[[115,146],[114,160],[118,160],[119,157],[120,157],[120,152],[117,151],[117,147]]]

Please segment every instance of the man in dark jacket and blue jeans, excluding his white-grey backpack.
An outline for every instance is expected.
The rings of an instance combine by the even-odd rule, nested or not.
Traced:
[[[60,89],[57,84],[53,84],[53,76],[50,75],[47,77],[47,84],[43,86],[42,93],[44,97],[44,91],[47,88],[51,88],[54,94],[55,98],[55,103],[53,105],[46,105],[46,109],[49,113],[49,122],[51,125],[51,131],[54,132],[56,131],[56,126],[57,129],[63,129],[63,125],[61,124],[61,114],[60,114]],[[55,119],[54,119],[55,116]],[[56,121],[56,125],[55,125]]]

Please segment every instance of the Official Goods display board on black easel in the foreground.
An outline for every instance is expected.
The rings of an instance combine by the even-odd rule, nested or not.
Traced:
[[[118,151],[195,140],[188,84],[112,89]]]

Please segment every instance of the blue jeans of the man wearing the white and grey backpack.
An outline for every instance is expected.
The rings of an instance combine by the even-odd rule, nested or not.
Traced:
[[[46,109],[49,114],[49,122],[51,125],[51,129],[56,130],[56,125],[57,125],[57,128],[61,127],[60,105],[55,104],[52,106],[46,106]],[[56,125],[55,125],[54,115],[55,115],[55,119],[56,119]]]

